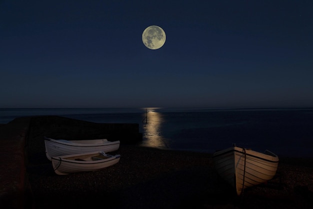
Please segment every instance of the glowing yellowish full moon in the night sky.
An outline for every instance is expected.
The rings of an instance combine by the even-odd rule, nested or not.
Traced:
[[[142,42],[149,49],[161,48],[165,39],[165,32],[158,26],[149,26],[142,33]]]

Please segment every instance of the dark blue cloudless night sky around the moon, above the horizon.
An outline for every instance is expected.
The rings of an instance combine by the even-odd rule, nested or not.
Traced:
[[[0,1],[0,108],[312,107],[313,1]],[[143,30],[166,33],[147,49]]]

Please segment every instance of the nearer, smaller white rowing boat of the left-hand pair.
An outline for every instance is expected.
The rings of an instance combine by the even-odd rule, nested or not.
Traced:
[[[102,151],[78,153],[51,158],[52,167],[56,174],[97,171],[116,164],[120,155],[109,155]]]

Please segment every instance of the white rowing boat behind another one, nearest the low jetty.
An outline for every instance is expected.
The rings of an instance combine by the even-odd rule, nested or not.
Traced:
[[[45,155],[51,157],[86,153],[92,151],[112,152],[119,148],[119,141],[107,141],[106,139],[90,140],[62,140],[44,137]]]

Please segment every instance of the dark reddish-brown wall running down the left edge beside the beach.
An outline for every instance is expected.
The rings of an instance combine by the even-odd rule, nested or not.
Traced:
[[[31,206],[24,152],[29,122],[18,118],[0,126],[0,208]]]

